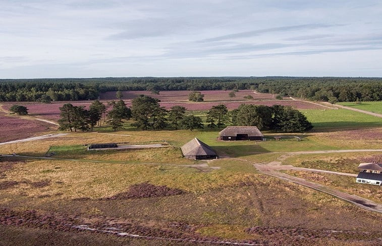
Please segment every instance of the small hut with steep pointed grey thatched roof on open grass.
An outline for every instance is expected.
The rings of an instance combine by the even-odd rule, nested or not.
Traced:
[[[198,160],[216,157],[215,151],[196,137],[183,145],[181,148],[184,157],[189,159]]]

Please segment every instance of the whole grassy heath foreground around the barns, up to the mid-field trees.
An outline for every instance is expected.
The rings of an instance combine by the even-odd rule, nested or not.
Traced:
[[[345,109],[301,111],[314,130],[281,134],[300,141],[220,141],[219,129],[139,131],[126,122],[116,132],[101,127],[0,145],[2,154],[31,156],[0,156],[0,239],[12,245],[28,245],[26,238],[30,245],[379,245],[381,213],[254,168],[280,161],[356,174],[359,162],[380,161],[380,118]],[[183,158],[180,146],[194,137],[221,158]],[[163,142],[169,147],[87,151],[92,143]],[[296,153],[339,149],[373,151]],[[45,155],[51,158],[37,158]],[[381,203],[380,187],[354,177],[284,172]]]

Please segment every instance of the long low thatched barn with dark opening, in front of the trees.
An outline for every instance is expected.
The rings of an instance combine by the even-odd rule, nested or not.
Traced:
[[[264,135],[256,126],[227,126],[219,137],[224,141],[263,140]]]

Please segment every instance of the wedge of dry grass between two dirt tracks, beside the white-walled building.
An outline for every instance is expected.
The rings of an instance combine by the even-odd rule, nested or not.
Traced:
[[[356,183],[355,177],[298,171],[286,171],[286,173],[341,190],[349,194],[364,197],[374,202],[382,203],[382,190],[379,186]]]

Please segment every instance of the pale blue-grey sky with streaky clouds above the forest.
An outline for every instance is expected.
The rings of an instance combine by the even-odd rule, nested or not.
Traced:
[[[0,78],[382,76],[380,0],[0,0]]]

